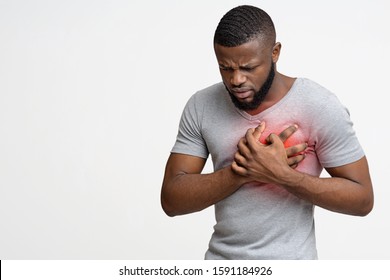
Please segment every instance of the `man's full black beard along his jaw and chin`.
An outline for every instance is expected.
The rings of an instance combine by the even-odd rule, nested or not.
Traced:
[[[236,106],[238,109],[242,111],[250,111],[257,109],[260,104],[264,101],[269,89],[272,86],[272,82],[274,81],[275,77],[275,65],[274,63],[271,63],[271,69],[269,71],[268,77],[266,81],[264,82],[263,86],[259,89],[258,92],[255,92],[253,96],[253,100],[250,102],[241,102],[237,99],[229,90],[229,88],[225,85],[226,90],[228,91],[230,98],[232,99],[232,102],[234,106]]]

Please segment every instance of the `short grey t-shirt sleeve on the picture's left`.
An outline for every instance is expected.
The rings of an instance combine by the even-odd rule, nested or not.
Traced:
[[[202,111],[196,103],[196,94],[193,95],[184,107],[179,131],[171,153],[187,154],[207,158],[209,151],[202,137]]]

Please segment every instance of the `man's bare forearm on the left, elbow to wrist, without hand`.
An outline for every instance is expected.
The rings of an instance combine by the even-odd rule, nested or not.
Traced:
[[[163,183],[162,207],[169,216],[203,210],[234,193],[242,180],[230,166],[210,174],[178,174]]]

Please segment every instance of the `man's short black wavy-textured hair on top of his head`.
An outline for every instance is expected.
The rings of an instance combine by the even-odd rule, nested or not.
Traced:
[[[274,23],[262,9],[243,5],[231,9],[222,17],[215,30],[214,44],[237,47],[256,38],[274,44]]]

